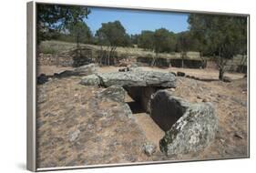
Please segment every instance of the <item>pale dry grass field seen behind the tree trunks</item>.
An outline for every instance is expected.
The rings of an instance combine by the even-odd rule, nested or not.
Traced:
[[[85,45],[81,44],[82,48],[88,48],[92,50],[92,57],[98,56],[98,51],[101,50],[107,50],[107,46],[96,46],[96,45]],[[43,54],[50,54],[54,56],[62,56],[65,54],[69,54],[70,52],[77,49],[77,44],[75,43],[68,43],[68,42],[61,42],[61,41],[44,41],[39,46],[39,52]],[[138,47],[121,47],[118,46],[116,49],[116,54],[120,58],[137,58],[137,57],[148,57],[152,58],[156,56],[156,54],[153,51],[144,50],[142,48]],[[158,56],[159,58],[168,58],[168,59],[181,59],[180,53],[172,52],[172,53],[161,53]],[[204,59],[206,59],[208,62],[213,62],[213,64],[216,64],[216,58],[204,56]],[[186,60],[195,60],[195,61],[201,61],[199,52],[188,52]],[[210,60],[210,61],[209,61]],[[214,65],[215,68],[217,67]],[[247,58],[246,56],[234,56],[232,59],[227,61],[227,71],[237,71],[239,66],[243,66],[246,68],[247,66]]]

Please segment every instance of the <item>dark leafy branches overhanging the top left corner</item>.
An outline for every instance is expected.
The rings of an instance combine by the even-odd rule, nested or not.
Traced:
[[[37,44],[51,39],[56,31],[83,21],[90,10],[85,6],[38,4],[36,15]]]

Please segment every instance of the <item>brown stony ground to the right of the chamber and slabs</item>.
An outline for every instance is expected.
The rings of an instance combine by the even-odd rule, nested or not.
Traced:
[[[199,158],[242,158],[248,152],[247,78],[230,83],[201,82],[178,77],[174,96],[190,102],[213,103],[219,119],[214,142]]]

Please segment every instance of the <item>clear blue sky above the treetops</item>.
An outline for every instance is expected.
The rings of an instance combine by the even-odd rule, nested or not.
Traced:
[[[154,31],[165,27],[174,33],[188,30],[188,14],[124,10],[115,8],[91,7],[91,14],[84,21],[93,34],[101,27],[101,23],[119,20],[128,34],[140,34],[142,30]]]

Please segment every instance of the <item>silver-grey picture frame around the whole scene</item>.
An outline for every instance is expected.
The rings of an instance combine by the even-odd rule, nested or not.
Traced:
[[[56,167],[56,168],[36,168],[36,5],[84,5],[87,7],[102,7],[112,9],[124,10],[143,10],[155,12],[173,12],[173,13],[194,13],[205,15],[232,15],[247,17],[247,156],[237,158],[205,158],[205,159],[184,159],[184,160],[162,160],[162,161],[147,161],[136,163],[117,163],[117,164],[102,164],[90,166],[74,166],[74,167]],[[81,168],[110,168],[110,167],[124,167],[124,166],[138,166],[138,165],[152,165],[152,164],[169,164],[177,162],[195,162],[195,161],[210,161],[210,160],[225,160],[250,158],[250,14],[213,12],[213,11],[197,11],[197,10],[182,10],[171,8],[153,8],[144,6],[123,6],[123,5],[93,5],[88,3],[73,3],[73,2],[59,2],[59,1],[44,1],[36,0],[26,3],[26,168],[31,171],[49,171],[49,170],[67,170],[67,169],[81,169]]]

